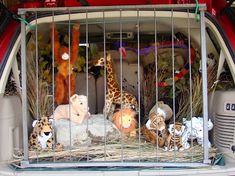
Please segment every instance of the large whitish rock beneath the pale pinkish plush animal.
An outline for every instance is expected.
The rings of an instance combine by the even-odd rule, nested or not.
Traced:
[[[70,128],[71,127],[71,128]],[[115,140],[120,137],[120,132],[112,122],[105,120],[102,114],[91,115],[88,120],[82,124],[76,124],[66,119],[55,122],[56,139],[64,147],[76,147],[91,142],[104,142],[106,140]]]

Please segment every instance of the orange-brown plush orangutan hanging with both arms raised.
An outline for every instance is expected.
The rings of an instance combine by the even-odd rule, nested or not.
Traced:
[[[55,102],[58,105],[62,103],[66,104],[69,102],[69,83],[70,95],[75,93],[75,76],[73,73],[73,65],[78,58],[80,25],[73,25],[70,52],[68,47],[60,45],[59,33],[55,26],[52,26],[50,30],[50,37],[51,42],[54,42],[54,58],[58,70],[55,76]]]

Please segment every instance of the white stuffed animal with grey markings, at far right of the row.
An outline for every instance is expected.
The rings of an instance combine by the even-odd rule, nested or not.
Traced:
[[[203,146],[203,117],[193,117],[191,120],[186,120],[183,118],[183,124],[186,126],[185,131],[182,135],[182,144],[185,149],[190,147],[188,140],[196,139],[198,144]],[[208,131],[213,128],[213,123],[208,120]],[[211,147],[209,139],[208,147]]]

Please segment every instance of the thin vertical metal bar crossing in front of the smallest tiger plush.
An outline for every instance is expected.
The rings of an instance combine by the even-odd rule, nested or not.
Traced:
[[[172,97],[172,103],[173,103],[173,120],[174,120],[174,126],[175,126],[175,47],[174,47],[174,18],[173,18],[173,9],[171,9],[171,42],[172,42],[172,48],[171,48],[171,57],[172,57],[172,89],[173,89],[173,97]],[[174,147],[175,147],[175,132],[174,132]],[[174,161],[176,161],[176,151],[174,150]]]

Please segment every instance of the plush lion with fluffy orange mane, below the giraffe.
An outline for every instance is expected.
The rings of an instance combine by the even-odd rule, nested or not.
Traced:
[[[113,114],[114,125],[125,135],[136,137],[137,121],[136,112],[129,108],[124,108]]]

